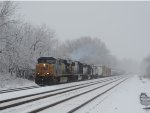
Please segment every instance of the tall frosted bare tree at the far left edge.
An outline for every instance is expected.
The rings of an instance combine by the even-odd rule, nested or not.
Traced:
[[[12,46],[15,42],[15,15],[16,4],[11,1],[0,2],[0,60],[5,64],[9,72],[12,65],[12,56],[15,48]],[[2,70],[2,69],[1,69]]]

